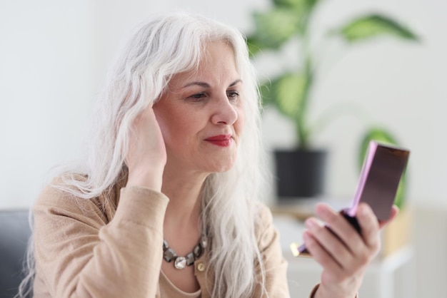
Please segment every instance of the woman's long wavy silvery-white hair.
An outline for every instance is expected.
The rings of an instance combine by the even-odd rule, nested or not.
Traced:
[[[237,29],[183,13],[153,16],[139,26],[116,59],[99,97],[86,158],[64,170],[64,185],[58,187],[85,199],[109,190],[123,169],[134,118],[160,98],[172,76],[196,69],[211,41],[226,41],[233,48],[246,118],[235,165],[225,173],[210,174],[201,193],[202,230],[211,237],[212,297],[250,297],[256,284],[264,288],[253,200],[266,193],[267,171],[256,75]],[[69,173],[85,173],[87,178],[76,180]],[[257,266],[260,276],[256,276]]]

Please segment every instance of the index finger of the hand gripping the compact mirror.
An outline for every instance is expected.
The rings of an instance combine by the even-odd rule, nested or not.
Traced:
[[[361,226],[361,237],[366,246],[372,251],[378,250],[380,245],[380,240],[378,239],[379,226],[377,217],[371,207],[365,202],[359,204],[356,218]]]

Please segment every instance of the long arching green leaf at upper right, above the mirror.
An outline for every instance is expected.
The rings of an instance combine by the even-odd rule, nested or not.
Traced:
[[[379,14],[371,14],[355,19],[336,31],[348,42],[365,41],[378,36],[395,36],[418,41],[418,36],[397,21]]]

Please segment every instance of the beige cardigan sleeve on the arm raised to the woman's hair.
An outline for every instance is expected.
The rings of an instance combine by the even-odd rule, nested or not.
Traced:
[[[36,275],[51,297],[155,297],[168,202],[160,192],[122,188],[107,222],[91,200],[46,187],[34,207]]]

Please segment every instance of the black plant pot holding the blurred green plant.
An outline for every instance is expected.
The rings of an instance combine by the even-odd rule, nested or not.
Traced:
[[[323,195],[326,150],[276,150],[276,194],[279,200]]]

